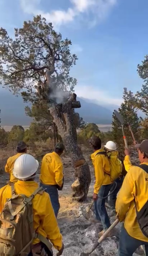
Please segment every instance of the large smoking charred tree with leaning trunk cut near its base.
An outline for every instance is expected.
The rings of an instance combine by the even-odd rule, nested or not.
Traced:
[[[25,102],[48,104],[57,126],[56,129],[53,125],[54,143],[59,139],[58,130],[75,168],[74,197],[83,201],[87,198],[91,174],[77,145],[73,112],[81,106],[73,93],[77,80],[69,75],[77,60],[77,56],[70,53],[70,45],[71,41],[63,40],[52,23],[47,23],[41,16],[25,21],[23,28],[15,29],[15,40],[1,28],[0,77],[4,87],[14,94],[20,93]]]

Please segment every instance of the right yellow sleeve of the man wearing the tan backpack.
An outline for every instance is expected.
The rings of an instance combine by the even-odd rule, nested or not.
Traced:
[[[60,233],[59,226],[57,224],[57,220],[55,217],[54,210],[52,208],[52,204],[50,201],[49,195],[44,192],[43,194],[43,207],[42,211],[43,214],[41,216],[41,221],[42,221],[42,226],[43,229],[45,230],[47,234],[47,238],[51,241],[53,246],[57,249],[60,250],[62,248],[62,235]]]

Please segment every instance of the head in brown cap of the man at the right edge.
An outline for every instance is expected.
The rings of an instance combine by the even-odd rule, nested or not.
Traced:
[[[140,162],[148,162],[148,139],[143,140],[141,144],[136,144],[135,147],[138,148]]]

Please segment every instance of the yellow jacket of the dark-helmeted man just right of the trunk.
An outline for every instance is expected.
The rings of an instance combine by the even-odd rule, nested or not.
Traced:
[[[94,185],[94,193],[98,194],[102,185],[111,184],[110,179],[110,162],[105,155],[97,155],[98,152],[104,151],[103,149],[96,150],[92,155],[92,163],[94,165],[94,174],[96,178],[96,182]]]

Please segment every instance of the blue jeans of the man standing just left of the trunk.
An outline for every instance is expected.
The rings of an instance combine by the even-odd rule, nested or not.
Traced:
[[[57,218],[57,214],[60,209],[60,203],[59,203],[59,194],[56,185],[46,185],[43,183],[40,183],[40,186],[42,186],[45,191],[49,194],[52,207],[55,212],[55,216]]]

